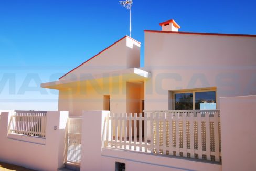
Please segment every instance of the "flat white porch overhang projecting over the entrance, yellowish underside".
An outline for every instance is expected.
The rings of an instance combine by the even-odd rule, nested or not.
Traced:
[[[81,82],[90,80],[101,80],[102,83],[115,83],[115,82],[144,82],[151,78],[151,73],[138,69],[129,68],[114,72],[107,72],[101,74],[82,74],[81,76],[71,76],[65,80],[58,80],[53,82],[42,83],[42,88],[48,89],[68,89],[77,86]],[[103,80],[103,81],[102,81]]]

